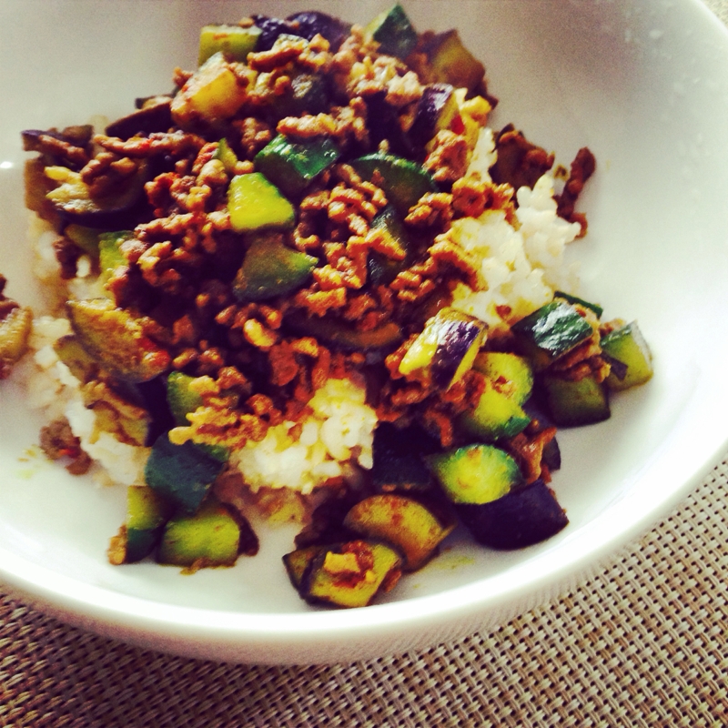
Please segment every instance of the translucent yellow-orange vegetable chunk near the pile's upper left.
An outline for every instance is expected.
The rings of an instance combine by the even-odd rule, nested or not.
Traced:
[[[177,91],[170,106],[172,119],[183,129],[214,126],[235,116],[247,93],[225,56],[216,53]]]

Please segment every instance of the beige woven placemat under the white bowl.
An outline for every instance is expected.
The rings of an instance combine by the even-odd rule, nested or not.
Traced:
[[[706,4],[728,24],[728,0]],[[0,596],[0,725],[728,726],[727,577],[728,455],[598,576],[427,652],[220,665],[96,637]]]

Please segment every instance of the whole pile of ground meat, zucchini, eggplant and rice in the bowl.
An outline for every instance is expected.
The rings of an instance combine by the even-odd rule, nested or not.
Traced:
[[[303,599],[358,607],[459,522],[492,549],[567,526],[557,428],[651,357],[565,263],[591,152],[491,129],[484,79],[400,5],[253,15],[100,133],[23,133],[56,309],[0,287],[2,372],[30,349],[46,455],[126,486],[112,563],[231,566],[262,512],[301,524]]]

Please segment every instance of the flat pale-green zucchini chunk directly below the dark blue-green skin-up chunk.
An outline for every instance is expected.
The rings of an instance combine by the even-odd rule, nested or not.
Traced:
[[[232,566],[240,553],[250,553],[251,534],[257,543],[248,521],[225,503],[210,500],[194,515],[167,521],[157,562],[193,569]]]

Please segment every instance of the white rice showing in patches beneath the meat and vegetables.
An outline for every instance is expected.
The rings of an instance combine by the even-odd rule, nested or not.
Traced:
[[[488,170],[495,157],[493,133],[483,128],[468,174],[489,181]],[[581,227],[556,215],[551,175],[541,177],[533,190],[521,187],[517,197],[519,207],[512,225],[503,211],[490,210],[477,219],[455,220],[450,232],[450,239],[477,261],[480,274],[480,289],[460,284],[453,306],[492,329],[541,307],[551,300],[555,289],[573,290],[576,285],[575,271],[564,265],[564,249]],[[35,273],[48,288],[59,291],[56,306],[68,295],[103,295],[100,282],[88,275],[90,266],[85,263],[81,265],[85,275],[67,284],[60,281],[52,248],[55,233],[49,226],[34,217],[30,234],[36,242]],[[504,318],[499,307],[510,307],[511,313]],[[100,466],[103,478],[124,485],[141,483],[149,450],[96,431],[96,415],[84,406],[80,382],[56,356],[54,341],[69,332],[64,318],[35,321],[33,364],[30,370],[25,368],[28,402],[45,410],[47,421],[66,417],[83,449]],[[270,428],[264,440],[248,442],[231,455],[231,467],[239,470],[250,490],[289,488],[305,494],[330,479],[349,477],[352,463],[371,468],[377,419],[365,402],[362,383],[329,379],[309,404],[312,414],[301,427],[284,422]]]

